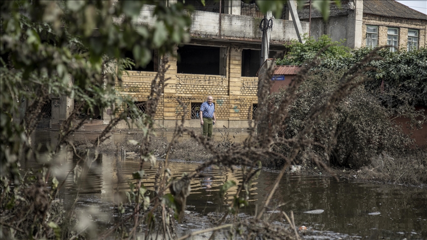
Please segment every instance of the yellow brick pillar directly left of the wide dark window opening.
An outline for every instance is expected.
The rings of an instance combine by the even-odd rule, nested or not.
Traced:
[[[176,105],[178,104],[175,101],[176,98],[176,51],[177,51],[177,47],[175,47],[175,49],[173,50],[173,56],[172,55],[168,55],[168,60],[169,60],[169,69],[168,71],[165,73],[165,79],[170,78],[169,80],[165,81],[165,90],[164,90],[164,111],[163,111],[163,119],[164,120],[175,120],[175,108]],[[163,59],[163,57],[162,57]],[[175,123],[173,121],[173,123],[170,121],[169,123],[164,123],[165,126],[174,126]]]

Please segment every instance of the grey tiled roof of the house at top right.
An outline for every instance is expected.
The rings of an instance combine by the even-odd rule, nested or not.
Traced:
[[[364,0],[363,13],[410,19],[427,20],[427,15],[394,0]]]

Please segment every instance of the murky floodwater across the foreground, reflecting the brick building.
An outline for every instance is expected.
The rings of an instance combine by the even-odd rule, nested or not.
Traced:
[[[47,142],[52,132],[36,134],[36,142]],[[54,133],[53,133],[54,134]],[[87,137],[87,134],[85,134]],[[114,135],[113,135],[114,136]],[[77,158],[71,153],[53,168],[57,172],[73,169]],[[158,160],[157,164],[163,164]],[[182,173],[191,173],[200,163],[171,161],[169,168],[174,177]],[[36,168],[35,161],[23,162],[25,169]],[[152,190],[156,169],[145,164],[144,186]],[[135,183],[131,174],[136,171],[138,160],[122,160],[111,155],[100,155],[91,163],[83,180],[75,184],[72,174],[60,192],[66,205],[74,203],[85,211],[97,207],[103,216],[92,218],[100,226],[112,226],[111,215],[114,202],[124,198],[129,183]],[[120,172],[121,174],[118,174]],[[239,183],[241,171],[234,173],[217,166],[206,169],[211,178],[197,179],[191,182],[191,194],[187,198],[187,210],[200,216],[220,212],[232,200],[237,188],[231,188],[224,198],[218,196],[223,182],[233,180]],[[118,175],[123,179],[118,183]],[[242,209],[242,216],[255,215],[266,194],[272,188],[277,177],[274,171],[262,171],[253,182],[250,192],[250,204]],[[60,176],[58,176],[61,179]],[[62,178],[63,179],[63,178]],[[305,239],[427,239],[427,190],[390,184],[337,182],[331,177],[285,175],[280,182],[273,199],[271,209],[267,211],[268,221],[280,219],[280,211],[294,212],[295,223],[306,226]],[[310,210],[324,210],[320,214],[304,213]],[[181,226],[181,232],[206,228],[188,221]],[[286,224],[285,222],[282,222]],[[99,227],[99,231],[102,231]],[[319,233],[319,231],[321,231]]]

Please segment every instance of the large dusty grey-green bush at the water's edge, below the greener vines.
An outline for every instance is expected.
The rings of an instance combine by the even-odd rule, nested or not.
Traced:
[[[341,71],[310,74],[299,88],[299,98],[289,107],[289,115],[279,136],[285,139],[296,137],[304,128],[312,108],[329,98],[338,87],[341,76]],[[277,105],[286,94],[286,89],[282,89],[270,97]],[[316,144],[301,151],[297,163],[304,164],[315,154],[327,164],[357,168],[369,164],[370,158],[383,151],[402,154],[412,140],[390,120],[391,114],[362,85],[357,87],[333,114],[306,136]],[[289,151],[286,146],[281,149]]]

